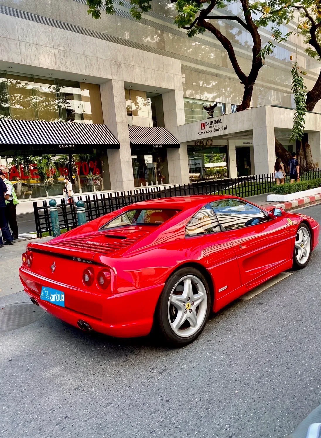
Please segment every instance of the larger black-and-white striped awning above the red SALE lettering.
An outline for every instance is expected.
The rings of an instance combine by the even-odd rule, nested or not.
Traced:
[[[38,120],[0,120],[0,145],[30,149],[54,147],[57,150],[78,148],[120,148],[119,141],[106,125],[89,123],[43,122]]]

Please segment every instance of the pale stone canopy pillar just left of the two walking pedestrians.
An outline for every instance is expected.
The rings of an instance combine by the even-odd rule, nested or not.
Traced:
[[[252,111],[255,174],[273,173],[275,137],[272,109],[269,106],[260,106]]]

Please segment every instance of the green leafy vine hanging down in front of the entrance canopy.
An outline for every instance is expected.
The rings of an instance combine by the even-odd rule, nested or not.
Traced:
[[[290,141],[302,140],[304,134],[305,114],[307,112],[306,95],[307,87],[304,85],[303,76],[307,74],[301,71],[297,63],[293,64],[292,74],[292,92],[295,102],[293,117],[293,128],[291,130]]]

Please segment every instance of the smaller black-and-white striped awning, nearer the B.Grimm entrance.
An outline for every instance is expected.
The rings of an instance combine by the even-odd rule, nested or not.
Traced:
[[[147,126],[129,126],[129,138],[132,146],[149,148],[179,148],[180,143],[166,128]]]

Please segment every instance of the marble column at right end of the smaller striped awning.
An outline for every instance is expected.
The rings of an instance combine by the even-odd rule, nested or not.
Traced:
[[[177,126],[185,124],[183,91],[173,90],[162,95],[165,127],[178,138]],[[167,149],[169,184],[189,184],[187,143]]]

